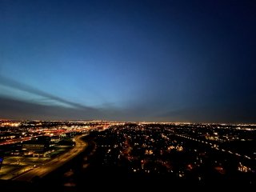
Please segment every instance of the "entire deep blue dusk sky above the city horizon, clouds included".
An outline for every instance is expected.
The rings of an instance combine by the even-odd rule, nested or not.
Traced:
[[[256,122],[255,1],[0,0],[0,118]]]

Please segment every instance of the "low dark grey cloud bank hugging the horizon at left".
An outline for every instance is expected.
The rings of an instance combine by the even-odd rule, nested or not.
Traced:
[[[0,118],[10,119],[98,119],[102,111],[93,108],[67,108],[64,106],[45,106],[0,96]]]

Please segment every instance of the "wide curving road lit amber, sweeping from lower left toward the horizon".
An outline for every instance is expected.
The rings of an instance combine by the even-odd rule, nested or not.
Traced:
[[[18,177],[13,178],[12,180],[30,182],[35,176],[42,178],[46,174],[49,174],[51,171],[56,170],[65,162],[70,161],[70,159],[74,158],[76,155],[80,154],[83,150],[85,150],[87,144],[86,142],[82,141],[82,136],[74,138],[76,146],[74,146],[74,148],[68,151],[66,154],[62,154],[52,159],[50,162],[46,162],[44,165],[38,166],[33,170],[30,170],[24,174],[19,175]]]

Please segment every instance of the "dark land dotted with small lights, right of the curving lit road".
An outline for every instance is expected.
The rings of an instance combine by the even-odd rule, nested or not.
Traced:
[[[254,131],[248,141],[246,132],[239,130],[233,134],[243,134],[242,142],[225,142],[220,139],[222,129],[208,136],[203,131],[212,129],[199,130],[200,135],[194,128],[178,128],[134,124],[94,131],[84,138],[89,143],[86,150],[66,165],[32,182],[1,181],[1,191],[206,191],[256,186],[255,160],[250,158]]]

